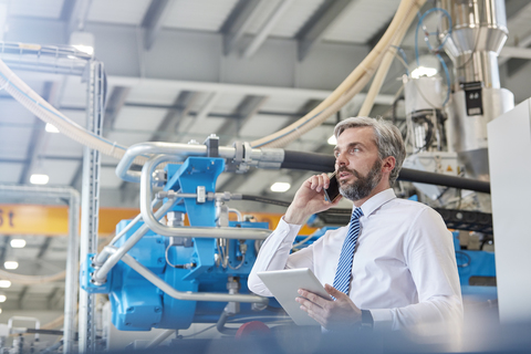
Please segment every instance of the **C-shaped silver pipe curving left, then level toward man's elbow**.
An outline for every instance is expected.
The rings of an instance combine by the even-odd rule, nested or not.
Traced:
[[[168,227],[158,221],[149,208],[152,196],[150,176],[154,169],[162,163],[171,160],[175,156],[158,155],[152,157],[142,168],[140,174],[140,214],[144,222],[155,233],[162,236],[195,237],[195,238],[226,238],[264,240],[271,233],[270,230],[254,228],[194,228],[194,227]]]

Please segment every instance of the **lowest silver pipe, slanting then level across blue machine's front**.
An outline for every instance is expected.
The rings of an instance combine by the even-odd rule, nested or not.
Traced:
[[[188,292],[178,291],[169,285],[167,282],[158,278],[149,269],[140,264],[129,254],[124,254],[122,261],[135,270],[138,274],[144,277],[152,284],[164,291],[169,296],[177,300],[188,301],[217,301],[217,302],[246,302],[246,303],[261,303],[268,304],[269,299],[259,295],[246,295],[246,294],[228,294],[228,293],[211,293],[211,292]]]

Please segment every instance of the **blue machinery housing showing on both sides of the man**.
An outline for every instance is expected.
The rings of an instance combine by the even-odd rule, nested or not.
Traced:
[[[164,191],[179,191],[198,196],[198,187],[205,195],[214,195],[216,180],[225,169],[225,159],[189,157],[183,165],[166,167],[168,183]],[[214,228],[220,218],[219,205],[214,198],[198,200],[183,197],[170,211],[186,215],[191,227]],[[180,219],[179,219],[180,220]],[[123,220],[116,233],[126,229],[132,220]],[[113,244],[124,247],[135,232],[143,227],[136,222]],[[232,228],[263,228],[267,222],[230,221]],[[321,237],[326,229],[316,231],[304,239],[308,246]],[[236,230],[235,230],[236,231]],[[302,238],[298,238],[300,241]],[[497,298],[496,287],[472,287],[471,279],[496,277],[493,253],[461,250],[455,233],[456,257],[459,278],[465,296],[481,300]],[[260,240],[165,237],[148,230],[127,254],[158,277],[169,287],[184,293],[249,294],[247,279],[254,263]],[[238,316],[278,316],[279,305],[270,301],[262,303],[237,303],[227,301],[179,300],[160,290],[125,262],[117,262],[106,274],[104,282],[94,281],[98,266],[96,254],[88,254],[81,269],[82,288],[90,293],[107,293],[112,304],[112,322],[121,331],[149,331],[157,329],[187,329],[191,323],[218,322],[221,314]],[[140,266],[140,267],[142,267]],[[481,284],[481,281],[479,281]],[[258,298],[258,296],[257,296]],[[260,313],[257,311],[260,310]]]

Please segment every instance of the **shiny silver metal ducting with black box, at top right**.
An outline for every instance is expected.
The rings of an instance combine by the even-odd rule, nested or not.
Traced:
[[[500,87],[498,54],[507,41],[503,0],[438,0],[451,17],[441,20],[440,40],[454,62],[455,94],[447,107],[449,150],[458,153],[467,175],[488,180],[487,123],[514,107]]]

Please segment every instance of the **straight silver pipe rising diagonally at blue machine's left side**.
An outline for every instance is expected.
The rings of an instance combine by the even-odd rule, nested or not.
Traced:
[[[155,218],[160,219],[163,216],[166,215],[166,212],[171,209],[171,207],[175,205],[177,200],[168,200],[166,201],[158,210],[155,212]],[[122,257],[127,253],[143,237],[146,235],[146,232],[149,231],[149,228],[144,223],[138,228],[138,230],[133,233],[131,238],[125,241],[124,244],[122,244],[121,248],[117,249],[117,251],[112,251],[112,248],[110,246],[104,248],[104,252],[106,254],[111,254],[108,259],[101,266],[101,268],[94,273],[93,280],[96,283],[104,283],[107,278],[107,273],[113,269],[114,266],[122,259]],[[97,264],[96,264],[97,266]]]

